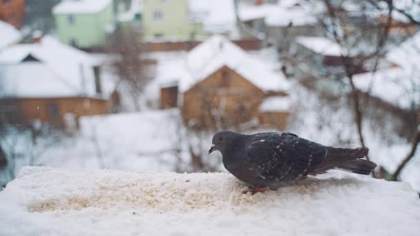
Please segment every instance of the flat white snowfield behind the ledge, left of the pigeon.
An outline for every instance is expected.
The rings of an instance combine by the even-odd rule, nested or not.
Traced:
[[[79,122],[77,136],[46,150],[37,164],[169,171],[175,170],[176,149],[181,148],[181,156],[187,150],[176,109],[80,117]]]

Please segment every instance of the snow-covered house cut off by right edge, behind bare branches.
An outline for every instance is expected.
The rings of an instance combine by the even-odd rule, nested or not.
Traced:
[[[390,66],[374,72],[355,75],[356,88],[365,94],[365,101],[391,113],[397,132],[410,139],[418,124],[420,110],[420,32],[405,40],[385,55]]]

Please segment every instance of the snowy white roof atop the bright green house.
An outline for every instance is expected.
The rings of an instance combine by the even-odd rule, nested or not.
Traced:
[[[53,8],[54,14],[93,14],[104,10],[113,0],[64,0]]]

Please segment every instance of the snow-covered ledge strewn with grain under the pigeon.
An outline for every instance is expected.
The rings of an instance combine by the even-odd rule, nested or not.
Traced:
[[[229,174],[26,167],[0,193],[4,235],[418,235],[408,184],[332,172],[242,194]]]

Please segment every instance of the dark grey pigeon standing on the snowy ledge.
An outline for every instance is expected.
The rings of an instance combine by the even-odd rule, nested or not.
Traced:
[[[368,148],[332,148],[289,132],[255,135],[217,132],[209,154],[213,150],[222,153],[225,168],[249,184],[254,193],[333,168],[370,175],[376,167],[372,161],[361,159],[369,152]]]

